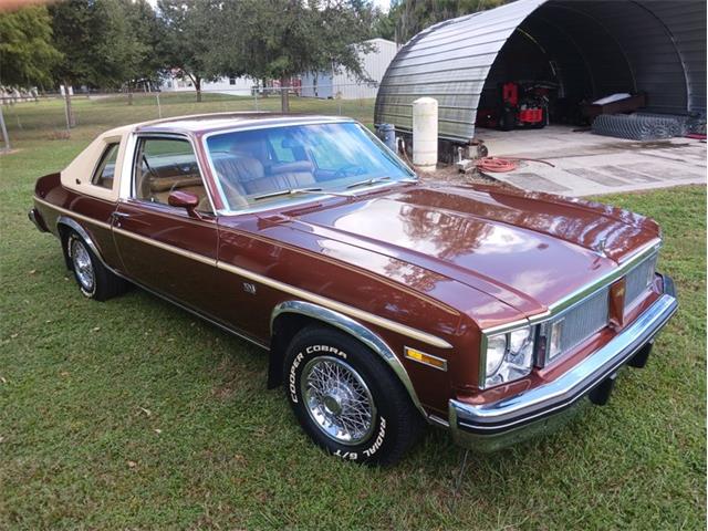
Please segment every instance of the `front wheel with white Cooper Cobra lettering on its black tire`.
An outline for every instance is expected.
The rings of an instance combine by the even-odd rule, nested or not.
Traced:
[[[310,438],[356,462],[391,465],[423,419],[392,371],[355,339],[323,326],[299,332],[283,367],[289,402]]]

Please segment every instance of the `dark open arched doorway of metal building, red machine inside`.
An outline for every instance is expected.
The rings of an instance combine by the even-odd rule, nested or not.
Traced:
[[[501,48],[483,84],[477,125],[511,129],[590,125],[613,112],[685,114],[690,86],[668,25],[629,1],[552,0]]]

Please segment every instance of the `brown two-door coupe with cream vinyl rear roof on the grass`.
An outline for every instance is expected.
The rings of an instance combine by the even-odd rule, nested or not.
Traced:
[[[204,115],[96,138],[30,219],[81,292],[137,284],[269,351],[269,386],[346,459],[425,421],[493,450],[607,400],[677,308],[658,226],[625,210],[423,184],[340,117]]]

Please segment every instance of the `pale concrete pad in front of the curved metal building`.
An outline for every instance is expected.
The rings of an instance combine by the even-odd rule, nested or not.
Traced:
[[[615,194],[706,184],[706,144],[691,138],[636,142],[552,125],[543,129],[478,129],[490,156],[522,160],[500,181],[531,191],[569,196]]]

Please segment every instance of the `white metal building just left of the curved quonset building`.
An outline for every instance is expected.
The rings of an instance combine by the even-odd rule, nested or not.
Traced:
[[[364,73],[373,81],[372,83],[358,81],[346,71],[303,74],[301,95],[322,98],[341,97],[343,100],[376,97],[378,83],[384,79],[388,64],[398,51],[398,45],[386,39],[372,39],[365,42],[374,44],[371,52],[362,54]]]

